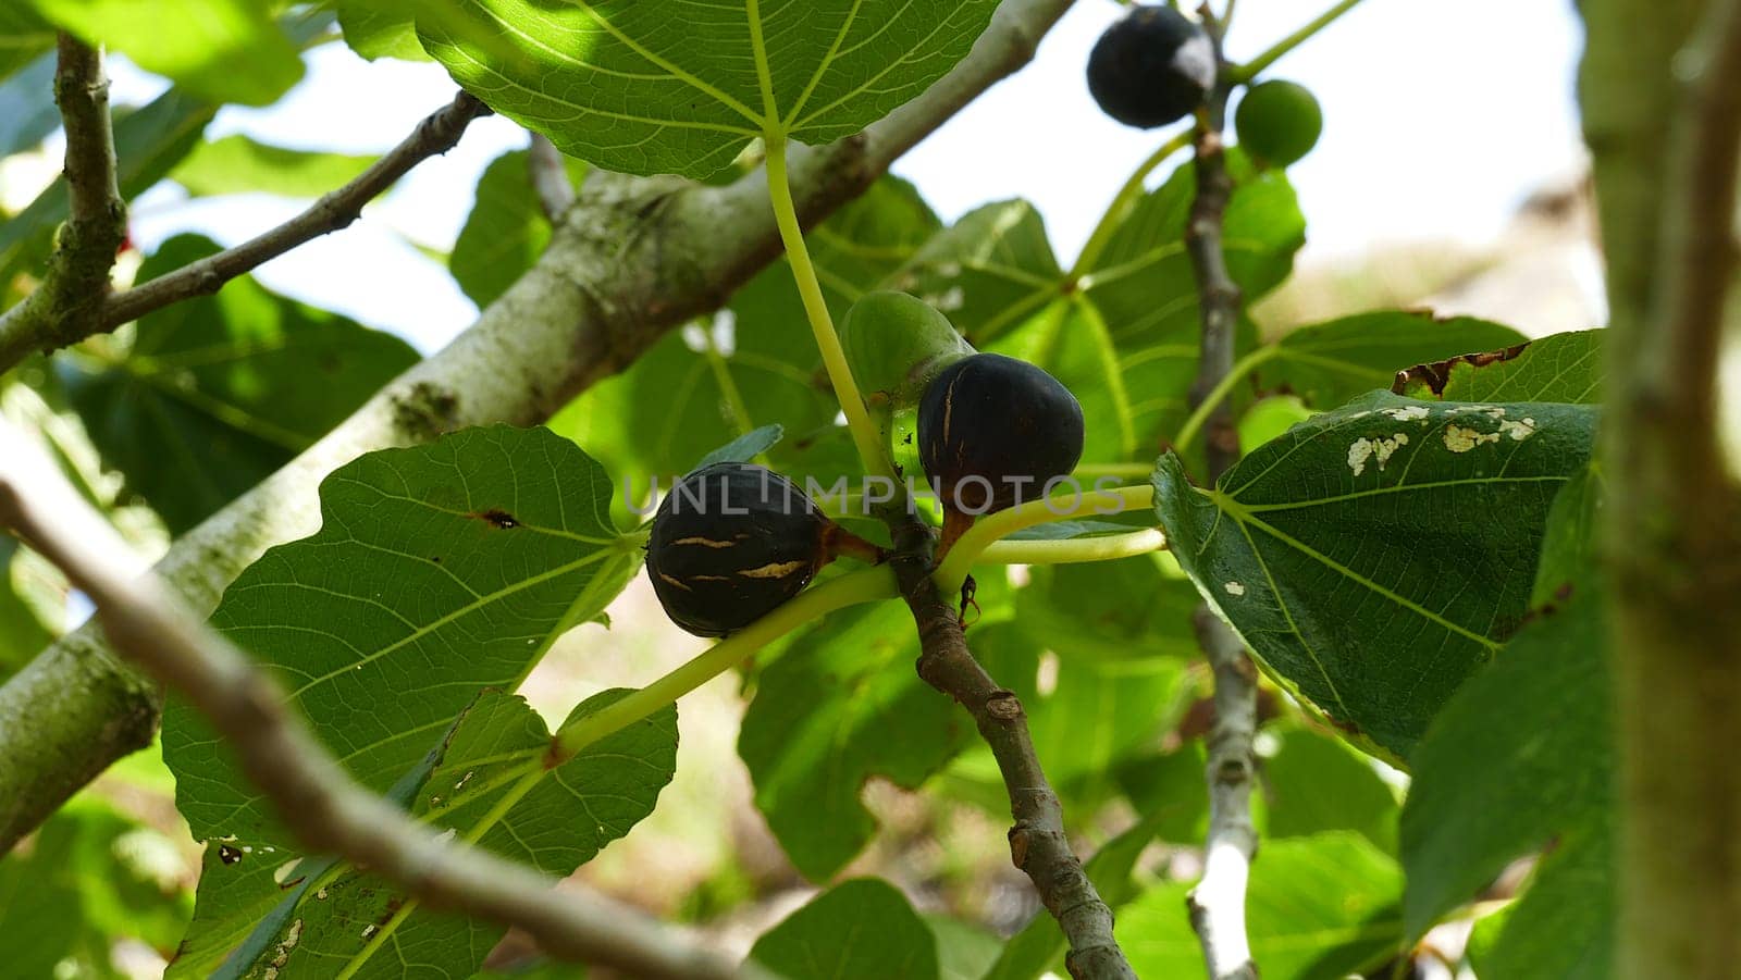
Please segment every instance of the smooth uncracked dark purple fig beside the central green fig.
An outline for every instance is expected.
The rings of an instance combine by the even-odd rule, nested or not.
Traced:
[[[1025,360],[975,353],[945,367],[919,399],[919,461],[956,515],[1038,500],[1081,454],[1081,406]]]

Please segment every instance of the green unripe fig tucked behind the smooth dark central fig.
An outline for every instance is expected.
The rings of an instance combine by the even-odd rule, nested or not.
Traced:
[[[846,312],[841,348],[865,397],[883,395],[891,406],[916,402],[938,371],[973,353],[949,317],[886,289],[865,292]]]

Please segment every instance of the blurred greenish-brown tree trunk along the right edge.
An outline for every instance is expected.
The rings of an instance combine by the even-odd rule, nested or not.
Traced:
[[[1612,310],[1616,970],[1715,980],[1741,959],[1741,482],[1718,442],[1715,374],[1738,273],[1741,2],[1581,9]]]

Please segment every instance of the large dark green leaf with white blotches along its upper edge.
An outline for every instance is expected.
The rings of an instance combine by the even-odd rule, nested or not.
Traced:
[[[1156,512],[1203,597],[1339,726],[1407,759],[1522,623],[1543,527],[1596,413],[1375,392],[1262,446],[1215,489],[1161,458]]]

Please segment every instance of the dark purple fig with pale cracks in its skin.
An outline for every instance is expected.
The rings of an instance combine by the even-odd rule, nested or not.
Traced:
[[[660,501],[648,578],[674,623],[721,637],[797,595],[836,552],[867,548],[876,552],[780,473],[714,463],[677,480]]]

